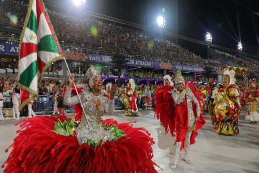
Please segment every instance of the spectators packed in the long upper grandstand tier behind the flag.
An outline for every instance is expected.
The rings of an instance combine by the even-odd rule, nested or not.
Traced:
[[[11,26],[21,30],[26,6],[28,4],[23,1],[4,0],[1,4],[4,15],[1,16],[0,21],[9,24],[11,21],[10,14],[16,16],[17,23]],[[147,36],[143,31],[137,29],[108,23],[90,16],[73,16],[68,12],[61,13],[48,10],[48,13],[60,43],[63,45],[95,49],[99,52],[116,52],[150,57],[163,62],[170,60],[170,63],[175,64],[180,62],[185,65],[195,66],[205,66],[207,64],[200,56],[188,49],[154,35]],[[91,26],[98,29],[97,35],[91,34]],[[2,35],[10,36],[5,32]],[[16,35],[13,37],[16,37]]]

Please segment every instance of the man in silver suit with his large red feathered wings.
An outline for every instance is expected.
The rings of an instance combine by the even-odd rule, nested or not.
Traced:
[[[205,124],[201,111],[202,105],[198,101],[202,97],[201,91],[196,90],[197,86],[194,85],[188,87],[181,71],[177,72],[174,81],[177,89],[173,89],[172,86],[168,88],[158,87],[155,93],[157,106],[155,115],[160,119],[165,131],[170,130],[171,135],[176,136],[172,169],[177,167],[181,149],[184,149],[183,160],[186,163],[191,163],[188,158],[189,145],[195,143],[197,130]],[[169,92],[168,89],[170,89]]]

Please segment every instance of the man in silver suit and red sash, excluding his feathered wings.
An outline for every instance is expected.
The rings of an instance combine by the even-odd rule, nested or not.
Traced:
[[[195,142],[194,138],[197,136],[197,132],[195,131],[205,123],[203,117],[203,120],[199,122],[201,116],[200,104],[188,87],[188,83],[185,84],[184,77],[182,75],[176,75],[174,81],[177,89],[172,90],[171,94],[176,104],[176,149],[171,166],[172,169],[177,167],[180,149],[183,147],[183,160],[188,164],[191,163],[188,158],[190,142]]]

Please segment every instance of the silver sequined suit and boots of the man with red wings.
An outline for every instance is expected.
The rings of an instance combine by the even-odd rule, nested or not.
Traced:
[[[174,90],[170,91],[170,93],[172,94],[175,104],[184,103],[185,94],[187,93],[186,98],[187,98],[187,107],[188,107],[189,129],[185,136],[185,148],[184,148],[184,153],[183,153],[183,159],[186,163],[191,163],[188,158],[188,149],[189,149],[189,145],[190,145],[190,136],[191,136],[192,130],[195,130],[195,117],[194,117],[194,113],[192,110],[192,101],[196,105],[197,116],[200,116],[199,102],[189,88],[187,90],[184,89],[181,93],[177,92],[177,90],[174,89]],[[172,169],[176,168],[177,163],[179,161],[180,148],[181,148],[181,142],[176,142],[175,155],[174,155],[174,160],[173,160],[172,167],[171,167]]]

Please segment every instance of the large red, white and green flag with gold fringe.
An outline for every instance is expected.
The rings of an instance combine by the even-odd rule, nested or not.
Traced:
[[[63,59],[42,0],[30,0],[20,37],[18,85],[21,86],[20,109],[38,96],[37,85],[44,71]]]

